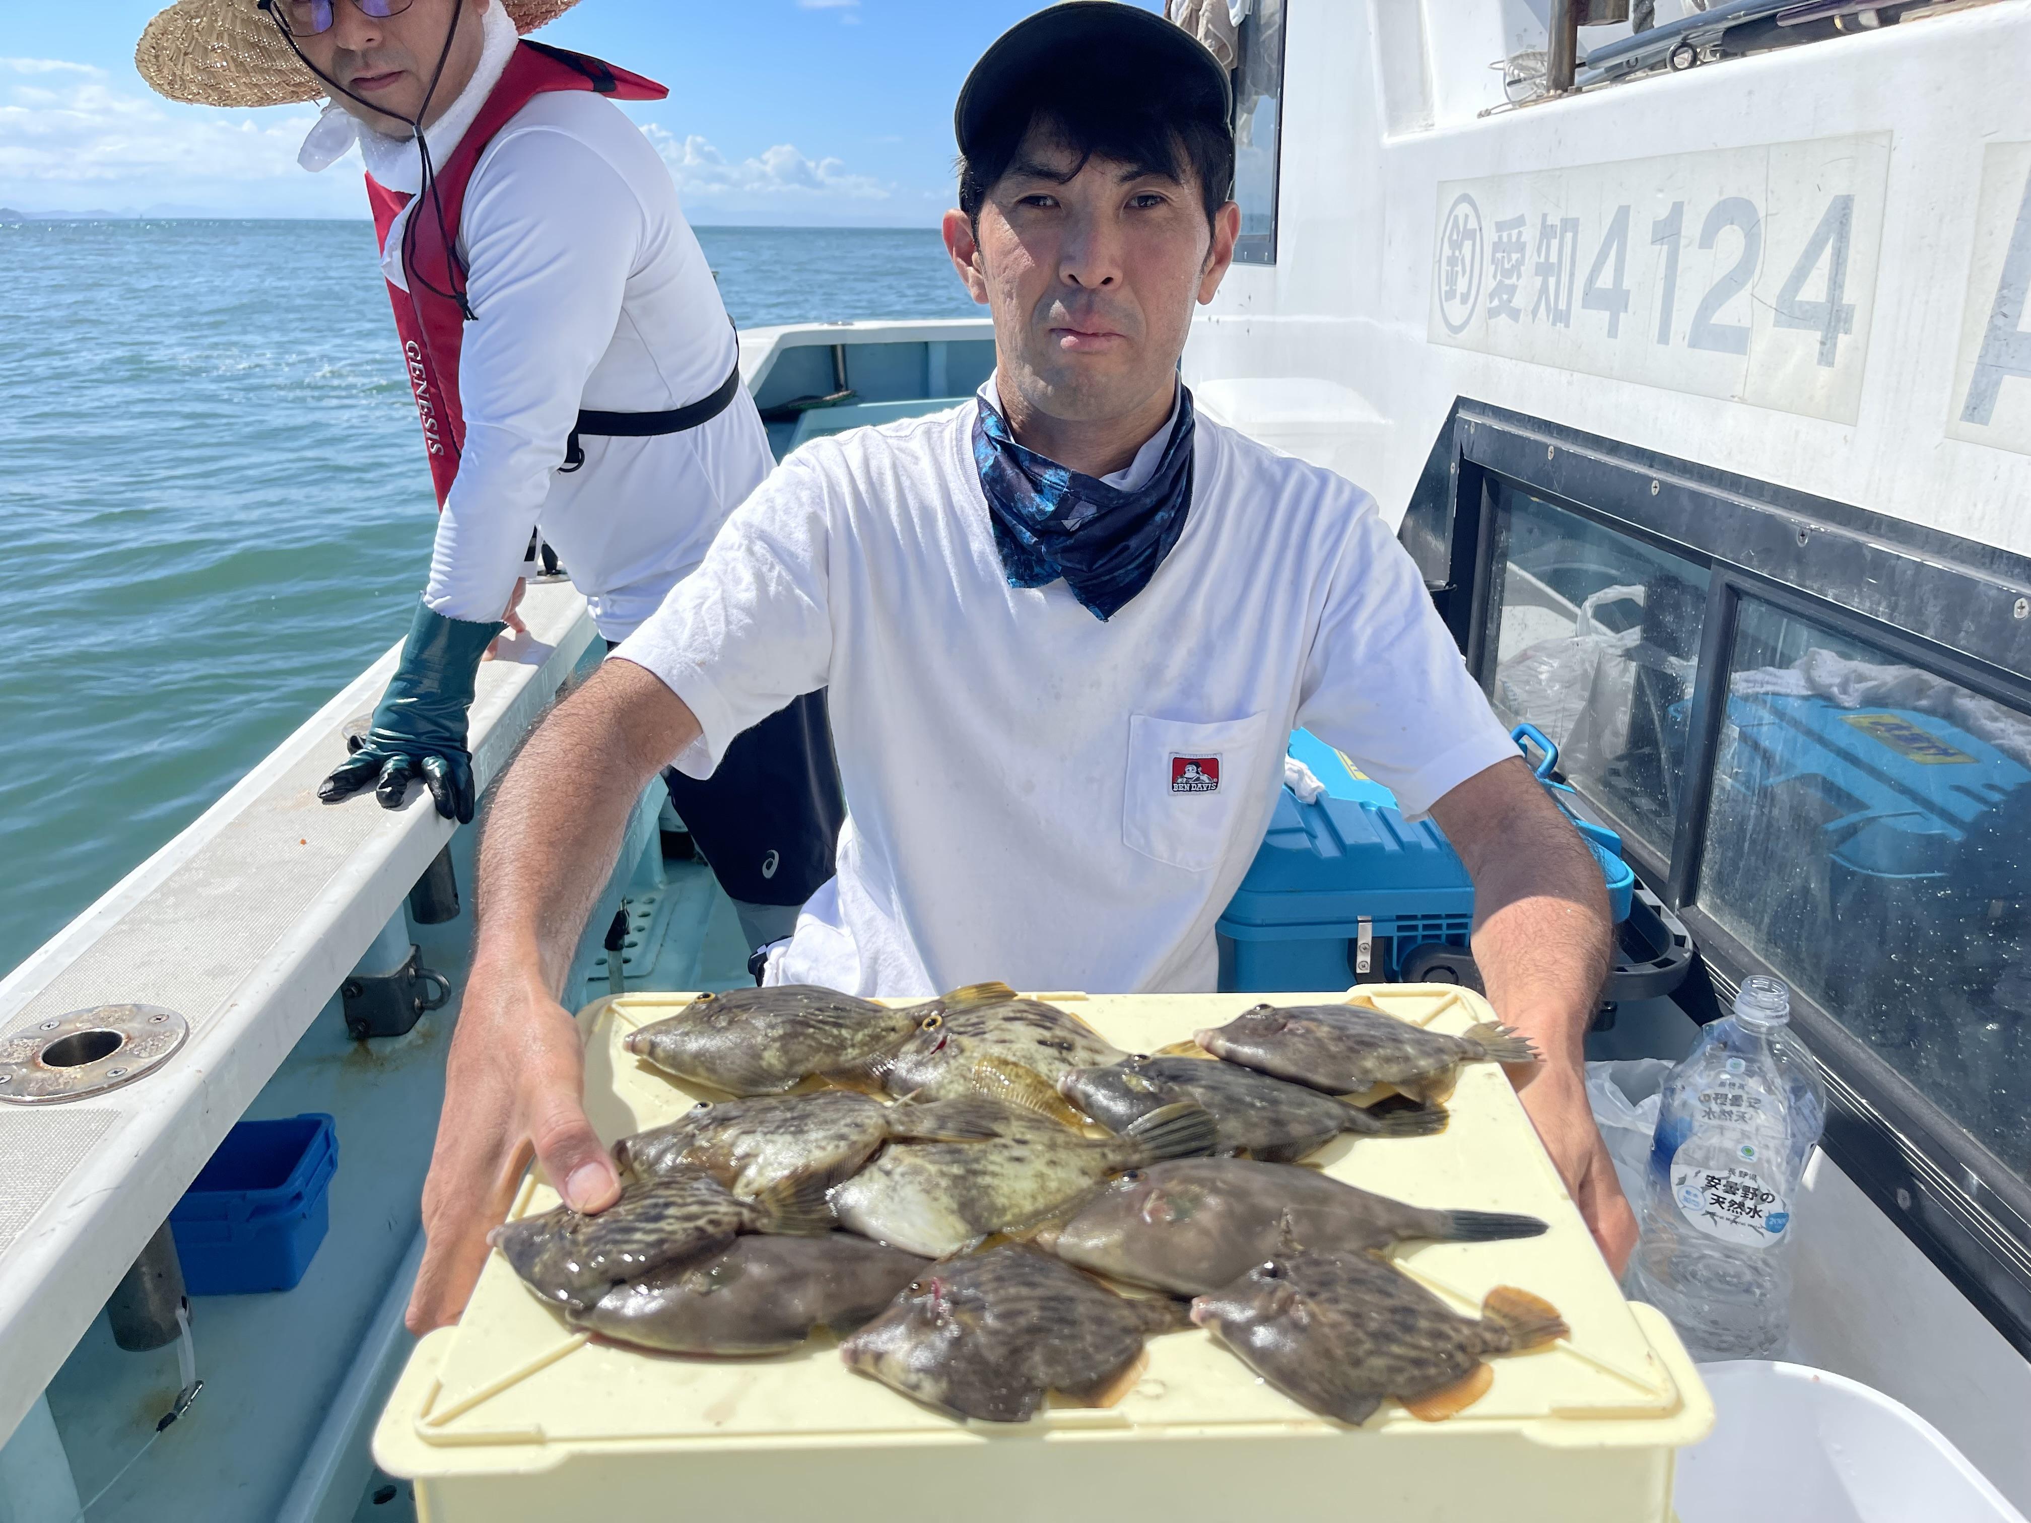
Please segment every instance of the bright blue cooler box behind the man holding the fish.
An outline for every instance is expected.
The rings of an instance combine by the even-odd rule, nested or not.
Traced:
[[[1635,871],[1621,859],[1615,831],[1590,824],[1566,802],[1572,790],[1552,782],[1558,747],[1527,725],[1519,747],[1544,751],[1537,776],[1600,863],[1615,922],[1629,918]],[[1432,820],[1412,824],[1379,782],[1347,766],[1316,735],[1296,731],[1290,753],[1326,792],[1300,804],[1288,788],[1241,887],[1215,928],[1221,989],[1345,989],[1353,981],[1399,977],[1414,946],[1466,946],[1475,926],[1475,883],[1466,863]],[[1369,967],[1359,967],[1367,920]]]

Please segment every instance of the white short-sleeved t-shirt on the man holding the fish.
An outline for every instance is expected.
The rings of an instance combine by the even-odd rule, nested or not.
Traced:
[[[1200,416],[1184,532],[1103,623],[1007,585],[977,406],[798,449],[617,652],[697,715],[693,776],[831,686],[839,875],[772,981],[1213,989],[1294,727],[1412,814],[1517,753],[1359,487]]]

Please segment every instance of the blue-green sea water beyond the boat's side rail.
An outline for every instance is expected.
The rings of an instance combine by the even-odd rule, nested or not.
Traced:
[[[741,327],[971,317],[932,229],[701,227]],[[0,973],[408,627],[435,526],[366,221],[0,225]]]

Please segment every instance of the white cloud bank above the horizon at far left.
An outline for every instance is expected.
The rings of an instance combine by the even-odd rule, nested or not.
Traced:
[[[297,148],[317,108],[221,112],[122,87],[104,69],[0,59],[0,203],[26,211],[366,215],[345,169],[307,175]]]

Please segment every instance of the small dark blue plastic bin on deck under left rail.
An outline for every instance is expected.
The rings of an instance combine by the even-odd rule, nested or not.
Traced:
[[[294,1289],[331,1227],[337,1168],[329,1115],[242,1121],[225,1133],[169,1212],[191,1296]]]

